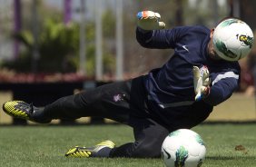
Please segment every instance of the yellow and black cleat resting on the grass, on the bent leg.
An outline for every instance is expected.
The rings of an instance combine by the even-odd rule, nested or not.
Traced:
[[[75,146],[65,153],[66,157],[89,158],[89,157],[108,157],[109,152],[115,147],[111,141],[100,142],[93,147]]]

